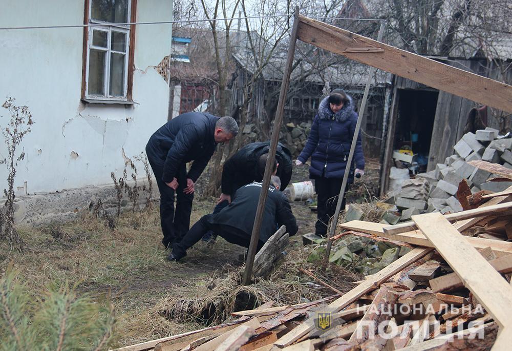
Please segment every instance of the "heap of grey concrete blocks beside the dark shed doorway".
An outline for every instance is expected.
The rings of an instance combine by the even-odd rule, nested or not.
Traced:
[[[512,185],[512,182],[489,182],[488,179],[495,175],[467,163],[483,160],[512,169],[512,139],[499,136],[496,129],[486,128],[464,134],[455,144],[454,151],[444,163],[438,163],[435,170],[404,181],[401,190],[391,194],[396,207],[402,211],[402,217],[410,218],[411,211],[438,211],[443,214],[462,211],[456,198],[462,179],[466,179],[472,193],[480,190],[498,192]]]

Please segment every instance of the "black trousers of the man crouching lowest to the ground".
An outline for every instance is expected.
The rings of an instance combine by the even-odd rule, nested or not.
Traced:
[[[244,247],[249,247],[250,244],[250,234],[245,233],[244,231],[234,228],[233,226],[226,225],[226,224],[214,224],[211,223],[211,217],[213,215],[205,215],[201,217],[199,221],[196,222],[190,228],[188,233],[183,237],[183,239],[173,244],[173,253],[177,257],[183,257],[186,255],[186,250],[193,246],[196,242],[201,240],[203,235],[206,234],[208,231],[214,232],[214,234],[223,237],[226,239],[226,241],[237,244]],[[258,248],[257,251],[261,249],[264,242],[261,240],[258,241]]]

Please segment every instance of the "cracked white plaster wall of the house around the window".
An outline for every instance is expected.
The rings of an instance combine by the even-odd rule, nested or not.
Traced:
[[[2,27],[82,24],[84,2],[3,2]],[[172,19],[172,2],[137,2],[137,21]],[[168,85],[155,70],[169,54],[172,25],[137,26],[133,106],[81,102],[82,28],[0,30],[0,105],[7,96],[27,105],[34,125],[19,146],[17,188],[28,193],[107,184],[119,176],[124,157],[144,151],[151,134],[167,121]],[[0,126],[9,121],[0,108]],[[7,147],[0,142],[0,157]],[[142,167],[139,164],[139,169]],[[143,171],[142,174],[143,175]],[[0,189],[7,169],[0,166]]]

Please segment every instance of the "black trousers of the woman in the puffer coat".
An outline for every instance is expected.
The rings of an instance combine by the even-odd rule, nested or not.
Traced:
[[[327,224],[336,212],[336,203],[338,202],[339,190],[342,189],[342,178],[315,179],[315,191],[317,195],[317,221],[315,223],[315,234],[326,236]],[[349,190],[349,184],[345,192]],[[341,211],[345,211],[345,196],[343,196]]]

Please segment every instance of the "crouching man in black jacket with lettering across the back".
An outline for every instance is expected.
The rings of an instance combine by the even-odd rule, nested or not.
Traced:
[[[286,226],[290,235],[295,235],[298,230],[287,197],[278,191],[279,178],[272,176],[271,183],[273,185],[268,188],[258,251],[281,225]],[[210,230],[233,244],[249,247],[261,187],[261,182],[244,185],[236,191],[231,203],[219,213],[201,217],[180,242],[173,243],[173,251],[167,259],[178,261],[185,257],[186,250]]]

